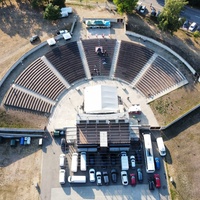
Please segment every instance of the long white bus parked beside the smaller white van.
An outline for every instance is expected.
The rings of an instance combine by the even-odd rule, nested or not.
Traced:
[[[153,157],[153,149],[151,142],[151,133],[143,133],[144,138],[144,158],[146,164],[146,172],[154,173],[155,165],[154,165],[154,157]]]

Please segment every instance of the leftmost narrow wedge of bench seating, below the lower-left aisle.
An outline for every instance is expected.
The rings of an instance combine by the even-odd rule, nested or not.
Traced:
[[[53,106],[53,104],[41,98],[37,98],[14,87],[10,88],[4,104],[14,108],[27,109],[41,113],[50,113]]]

